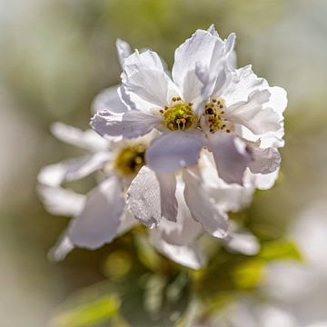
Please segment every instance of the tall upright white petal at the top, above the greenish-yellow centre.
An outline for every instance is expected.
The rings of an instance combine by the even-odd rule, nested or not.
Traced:
[[[220,46],[219,46],[220,45]],[[197,30],[191,38],[180,45],[174,54],[173,81],[180,87],[183,98],[188,102],[201,96],[203,84],[196,74],[196,66],[201,63],[203,67],[211,65],[213,56],[220,48],[223,54],[223,41],[208,31]]]

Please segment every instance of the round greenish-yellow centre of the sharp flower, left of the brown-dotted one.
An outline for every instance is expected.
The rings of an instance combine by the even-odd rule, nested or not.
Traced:
[[[171,131],[184,131],[193,126],[195,122],[193,104],[184,104],[180,97],[173,97],[172,100],[173,102],[179,101],[179,103],[173,104],[163,112],[164,126]]]

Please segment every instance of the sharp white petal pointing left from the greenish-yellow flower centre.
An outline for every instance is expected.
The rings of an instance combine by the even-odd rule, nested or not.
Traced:
[[[161,123],[160,117],[131,110],[124,114],[112,114],[108,111],[96,113],[90,124],[103,137],[110,139],[111,137],[122,136],[130,139],[150,133]]]

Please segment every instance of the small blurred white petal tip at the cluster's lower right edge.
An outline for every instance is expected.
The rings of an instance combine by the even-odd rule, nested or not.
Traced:
[[[260,250],[258,240],[251,233],[229,233],[223,243],[227,249],[245,255],[255,255]]]

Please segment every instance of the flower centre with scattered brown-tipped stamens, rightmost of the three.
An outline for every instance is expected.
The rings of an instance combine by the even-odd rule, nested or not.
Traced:
[[[234,130],[233,123],[224,117],[226,104],[222,98],[213,99],[209,104],[205,104],[203,116],[210,133],[223,131],[231,133]]]

